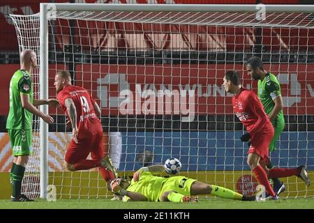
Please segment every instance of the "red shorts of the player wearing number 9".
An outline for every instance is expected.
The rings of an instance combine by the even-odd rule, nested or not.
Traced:
[[[71,140],[66,151],[65,160],[69,164],[74,164],[79,160],[85,160],[89,153],[93,160],[101,160],[103,151],[103,132],[91,134],[84,139],[77,139],[77,144]]]

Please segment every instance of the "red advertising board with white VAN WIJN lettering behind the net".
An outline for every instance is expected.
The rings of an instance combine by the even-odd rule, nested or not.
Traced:
[[[285,114],[314,114],[314,65],[265,64],[264,67],[274,72],[281,82]],[[91,89],[92,95],[101,101],[105,116],[184,114],[184,110],[176,108],[177,103],[181,105],[181,98],[174,97],[184,90],[187,97],[183,102],[187,103],[186,108],[193,105],[195,114],[232,114],[232,95],[226,95],[223,89],[225,70],[239,70],[243,85],[256,91],[256,82],[248,77],[244,67],[233,64],[82,64],[76,66],[75,79],[77,85]],[[171,100],[165,96],[158,98],[158,93],[166,90],[172,93]],[[158,103],[163,108],[158,109]],[[171,111],[169,107],[165,109],[166,104],[171,105]]]

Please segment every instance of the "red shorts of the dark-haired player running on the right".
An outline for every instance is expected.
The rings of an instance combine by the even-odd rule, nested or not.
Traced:
[[[274,128],[272,125],[263,128],[251,139],[251,146],[248,148],[249,153],[255,153],[261,157],[261,161],[269,160],[269,144],[274,137]]]

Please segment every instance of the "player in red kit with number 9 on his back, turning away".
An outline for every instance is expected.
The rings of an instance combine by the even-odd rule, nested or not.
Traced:
[[[89,92],[71,84],[70,73],[66,70],[57,72],[54,78],[57,99],[72,125],[73,138],[66,151],[66,168],[69,171],[100,167],[103,178],[110,180],[117,177],[110,157],[104,156],[103,128],[98,115],[100,108]],[[91,160],[87,156],[91,153]]]

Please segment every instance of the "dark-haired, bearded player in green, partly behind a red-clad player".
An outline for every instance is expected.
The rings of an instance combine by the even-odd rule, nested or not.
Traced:
[[[248,75],[257,80],[257,95],[262,102],[264,111],[268,114],[271,123],[274,126],[275,134],[269,144],[269,151],[276,149],[276,141],[285,128],[285,119],[283,118],[283,98],[281,97],[281,85],[278,79],[271,72],[264,70],[262,60],[253,56],[245,63]],[[267,168],[271,169],[273,165],[269,161]],[[280,194],[285,191],[285,185],[278,178],[272,178],[274,183],[274,192]]]

